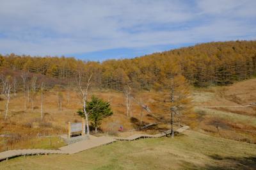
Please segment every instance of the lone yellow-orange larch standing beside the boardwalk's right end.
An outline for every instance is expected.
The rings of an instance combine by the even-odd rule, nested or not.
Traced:
[[[180,67],[176,61],[170,60],[163,63],[160,76],[160,81],[164,88],[161,89],[159,106],[170,113],[173,137],[174,116],[179,116],[180,118],[182,112],[187,112],[191,108],[189,84],[185,77],[181,75]]]

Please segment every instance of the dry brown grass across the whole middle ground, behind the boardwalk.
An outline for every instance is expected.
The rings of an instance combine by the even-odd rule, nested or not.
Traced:
[[[195,105],[237,105],[250,104],[256,101],[256,79],[238,82],[228,87],[211,87],[193,90],[193,102]],[[58,135],[67,133],[67,123],[80,122],[76,111],[82,107],[81,100],[76,91],[70,91],[70,103],[67,103],[67,91],[63,90],[63,111],[60,112],[57,104],[56,91],[47,91],[44,98],[44,118],[40,120],[40,96],[35,102],[35,112],[31,111],[31,103],[27,102],[27,109],[24,111],[23,93],[17,93],[10,102],[8,120],[4,121],[4,100],[0,100],[0,134],[20,134],[36,137],[37,135]],[[96,95],[111,103],[113,116],[103,120],[101,130],[109,134],[118,135],[120,125],[124,130],[138,128],[141,107],[132,103],[132,121],[127,118],[125,112],[124,95],[115,91],[92,91],[90,95]],[[150,107],[152,113],[159,118],[156,120],[152,114],[143,112],[143,123],[153,123],[159,120],[169,121],[169,113],[158,107],[154,100],[156,92],[135,93],[135,97]],[[2,97],[3,98],[3,97]],[[89,97],[90,98],[90,97]],[[255,120],[256,111],[250,107],[246,108],[225,108],[225,109],[199,109],[189,112],[182,117],[182,122],[187,123],[191,128],[200,130],[214,136],[228,139],[245,140],[256,143]],[[161,118],[161,119],[160,119]],[[177,120],[176,120],[177,121]],[[219,126],[219,132],[216,129]],[[157,130],[161,130],[157,127]],[[145,133],[145,132],[143,132]],[[147,133],[154,133],[148,130]],[[225,135],[224,135],[225,134]],[[19,143],[19,142],[16,142]],[[18,144],[19,145],[19,144]],[[18,146],[17,145],[17,146]]]

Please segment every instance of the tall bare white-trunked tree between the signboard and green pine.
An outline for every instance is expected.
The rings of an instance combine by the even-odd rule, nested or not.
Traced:
[[[88,97],[88,90],[91,85],[91,79],[92,79],[92,73],[90,75],[84,76],[81,72],[78,72],[78,85],[79,85],[79,91],[81,94],[81,98],[83,100],[83,112],[85,116],[85,123],[86,123],[86,129],[87,134],[90,134],[89,129],[89,121],[88,121],[88,112],[86,112],[86,102]]]

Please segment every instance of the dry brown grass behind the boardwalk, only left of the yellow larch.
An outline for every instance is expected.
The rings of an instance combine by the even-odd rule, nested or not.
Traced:
[[[24,110],[24,98],[23,93],[17,93],[16,97],[12,96],[10,102],[10,112],[8,114],[8,119],[4,121],[4,112],[1,112],[0,116],[0,134],[10,134],[19,135],[20,139],[13,141],[14,145],[19,148],[23,146],[22,143],[28,143],[25,138],[35,138],[38,135],[59,135],[67,133],[68,121],[71,122],[81,122],[81,117],[77,116],[77,109],[81,108],[81,100],[76,91],[70,91],[70,103],[67,103],[67,91],[62,91],[63,93],[63,109],[60,111],[58,109],[56,91],[47,91],[44,95],[44,118],[40,119],[40,96],[36,97],[35,111],[31,109],[31,103],[27,101],[27,108]],[[103,132],[109,132],[115,134],[120,125],[123,125],[124,130],[131,130],[138,127],[138,125],[132,123],[130,118],[127,118],[125,113],[124,105],[124,95],[122,93],[116,93],[113,91],[93,91],[91,95],[96,95],[109,101],[111,108],[113,109],[113,116],[106,118],[101,125],[101,130]],[[89,98],[91,97],[89,96]],[[154,93],[150,94],[154,95]],[[145,104],[150,106],[148,102],[147,93],[141,93],[141,98],[144,98]],[[152,103],[152,101],[151,101]],[[0,101],[0,108],[4,108],[4,100]],[[135,119],[140,119],[140,109],[141,107],[135,102],[132,104],[132,117]],[[152,123],[156,120],[152,117],[143,114],[144,123]],[[28,136],[29,137],[26,137]],[[22,141],[22,142],[21,142]],[[13,144],[8,144],[12,145]],[[3,150],[3,145],[0,146],[0,150]]]

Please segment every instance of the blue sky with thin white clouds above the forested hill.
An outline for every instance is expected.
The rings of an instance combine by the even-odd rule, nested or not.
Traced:
[[[0,54],[133,58],[256,40],[255,0],[0,0]]]

